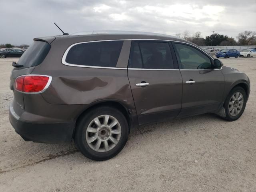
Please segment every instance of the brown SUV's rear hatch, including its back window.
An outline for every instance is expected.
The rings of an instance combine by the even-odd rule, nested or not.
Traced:
[[[14,92],[14,101],[11,107],[13,107],[13,110],[16,112],[16,114],[18,114],[18,116],[24,112],[25,106],[23,93],[15,89],[15,79],[18,76],[31,74],[34,68],[43,62],[51,48],[50,43],[54,39],[55,37],[34,39],[33,44],[29,46],[26,52],[24,52],[17,64],[13,64],[15,67],[11,73],[10,89]]]

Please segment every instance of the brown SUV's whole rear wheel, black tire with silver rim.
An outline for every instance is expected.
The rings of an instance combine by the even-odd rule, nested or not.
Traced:
[[[99,121],[94,121],[96,118]],[[105,123],[106,119],[108,121]],[[116,120],[118,123],[110,129],[111,124]],[[95,122],[100,126],[97,126]],[[74,142],[78,150],[87,158],[103,161],[116,156],[124,148],[128,134],[128,123],[122,112],[116,108],[102,106],[90,110],[79,120],[74,134]],[[94,141],[91,142],[92,140]]]

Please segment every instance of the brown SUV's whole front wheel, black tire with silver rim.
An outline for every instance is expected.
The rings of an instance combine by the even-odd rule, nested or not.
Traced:
[[[239,94],[242,95],[241,100],[239,100],[239,97],[240,97]],[[235,97],[235,99],[233,98],[233,96]],[[238,96],[238,97],[236,97],[236,96]],[[236,106],[239,106],[239,107],[237,107],[237,109],[235,110],[236,101],[238,101]],[[242,101],[242,105],[239,104],[241,101]],[[224,119],[226,119],[228,121],[235,121],[238,118],[240,118],[240,116],[244,112],[244,108],[246,106],[246,101],[247,101],[247,95],[246,95],[246,92],[244,91],[244,89],[240,86],[233,88],[230,91],[230,93],[228,94],[226,101],[224,102],[224,105],[223,105],[224,111],[225,111]],[[233,104],[231,104],[231,103],[233,103]],[[238,109],[238,108],[240,108],[240,109]],[[234,111],[233,111],[233,109],[234,109]],[[237,111],[237,113],[235,111]],[[234,113],[232,114],[232,112],[234,112]]]

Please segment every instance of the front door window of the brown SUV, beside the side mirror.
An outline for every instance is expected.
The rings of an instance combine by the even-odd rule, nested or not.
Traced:
[[[202,52],[188,45],[175,43],[181,69],[211,69],[211,61]]]

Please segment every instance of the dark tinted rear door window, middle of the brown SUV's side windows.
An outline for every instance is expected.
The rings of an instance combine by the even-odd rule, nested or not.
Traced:
[[[130,66],[145,69],[173,69],[169,44],[165,42],[134,43]]]

